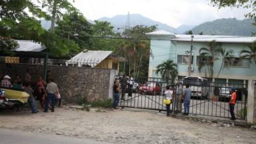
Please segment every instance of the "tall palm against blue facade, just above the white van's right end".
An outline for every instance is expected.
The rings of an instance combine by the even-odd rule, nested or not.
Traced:
[[[209,48],[202,47],[199,50],[201,60],[198,63],[198,70],[201,72],[205,68],[205,76],[214,76],[214,62],[220,60],[221,45],[215,41],[210,42]]]

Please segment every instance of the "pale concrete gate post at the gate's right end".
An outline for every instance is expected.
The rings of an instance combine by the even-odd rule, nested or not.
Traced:
[[[256,87],[255,80],[248,81],[248,100],[247,100],[247,122],[256,123]]]

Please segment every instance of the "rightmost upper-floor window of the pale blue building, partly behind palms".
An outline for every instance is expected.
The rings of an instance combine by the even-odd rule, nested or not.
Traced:
[[[225,67],[250,67],[249,60],[241,60],[241,58],[232,58],[232,60],[228,60],[225,62]]]

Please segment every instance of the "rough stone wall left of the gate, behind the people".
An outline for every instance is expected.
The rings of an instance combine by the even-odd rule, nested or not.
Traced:
[[[22,78],[30,70],[32,81],[36,81],[38,76],[44,76],[43,65],[5,65],[0,64],[0,71],[15,77],[19,74]],[[48,66],[51,70],[54,81],[61,90],[61,96],[70,102],[74,102],[81,97],[88,100],[108,99],[112,97],[112,84],[115,79],[115,70],[88,68],[88,67],[55,67]]]

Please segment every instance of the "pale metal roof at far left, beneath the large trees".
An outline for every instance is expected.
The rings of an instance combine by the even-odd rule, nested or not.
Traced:
[[[33,51],[33,52],[40,52],[45,49],[42,47],[40,43],[33,42],[30,40],[16,40],[19,44],[19,47],[15,49],[15,51]]]

